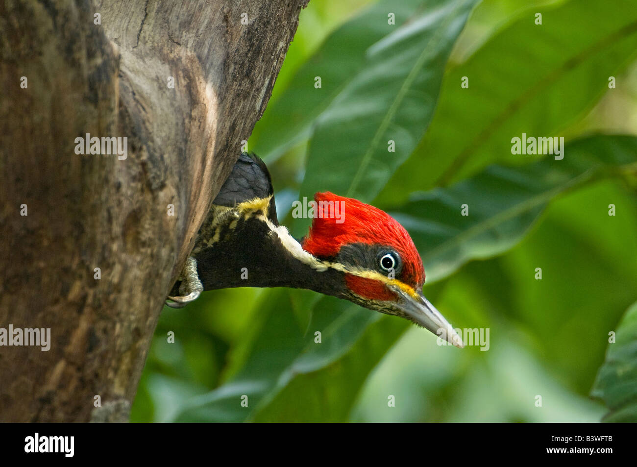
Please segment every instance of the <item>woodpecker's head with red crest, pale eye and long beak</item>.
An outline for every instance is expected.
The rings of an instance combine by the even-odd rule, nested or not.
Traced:
[[[314,218],[302,247],[343,272],[343,298],[406,318],[456,347],[464,346],[452,326],[422,295],[422,259],[403,226],[356,199],[330,192],[317,193],[314,199]]]

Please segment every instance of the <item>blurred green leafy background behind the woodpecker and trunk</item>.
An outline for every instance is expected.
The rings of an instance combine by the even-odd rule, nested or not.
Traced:
[[[636,40],[629,0],[310,1],[250,139],[279,219],[303,236],[317,190],[392,213],[489,350],[309,291],[205,292],[164,308],[131,419],[637,421]],[[522,133],[564,159],[513,155]]]

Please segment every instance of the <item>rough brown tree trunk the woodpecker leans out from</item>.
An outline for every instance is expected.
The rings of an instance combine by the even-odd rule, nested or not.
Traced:
[[[127,420],[306,1],[0,0],[0,328],[50,328],[0,347],[1,421]]]

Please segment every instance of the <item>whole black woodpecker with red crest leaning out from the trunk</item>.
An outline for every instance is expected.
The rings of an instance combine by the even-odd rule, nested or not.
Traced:
[[[423,296],[422,259],[403,226],[357,199],[319,192],[314,201],[310,231],[297,241],[276,217],[268,168],[242,153],[166,305],[181,308],[203,291],[231,287],[309,289],[408,319],[464,347]]]

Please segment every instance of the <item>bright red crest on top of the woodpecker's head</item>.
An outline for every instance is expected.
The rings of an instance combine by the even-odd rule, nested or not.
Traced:
[[[401,270],[396,274],[396,279],[416,290],[422,287],[425,281],[422,260],[412,238],[396,219],[357,199],[330,192],[317,193],[314,200],[317,205],[310,233],[303,240],[304,250],[319,259],[331,259],[345,245],[362,243],[390,247],[400,256]],[[357,280],[359,283],[368,281],[362,278]],[[380,287],[380,284],[376,287]],[[385,294],[378,291],[373,295],[381,298]]]

